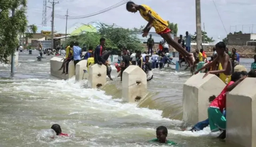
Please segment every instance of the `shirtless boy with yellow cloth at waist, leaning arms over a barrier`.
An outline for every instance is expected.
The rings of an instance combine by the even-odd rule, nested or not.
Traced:
[[[218,56],[212,62],[210,62],[206,66],[200,68],[198,71],[196,71],[195,74],[197,74],[201,70],[204,70],[206,68],[210,68],[211,66],[214,66],[214,64],[219,62],[222,65],[222,70],[208,71],[204,75],[204,77],[206,77],[208,74],[221,74],[221,73],[223,73],[224,75],[226,75],[226,83],[229,83],[230,80],[231,80],[230,75],[232,75],[232,63],[230,61],[230,58],[229,58],[228,54],[225,52],[226,44],[224,42],[218,42],[215,45],[215,47],[216,47],[216,52],[217,52]]]

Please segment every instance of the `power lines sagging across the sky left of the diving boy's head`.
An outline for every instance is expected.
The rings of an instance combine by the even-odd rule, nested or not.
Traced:
[[[88,15],[84,15],[84,16],[69,16],[68,19],[81,19],[81,18],[88,18],[88,17],[91,17],[91,16],[95,16],[95,15],[98,15],[98,14],[102,14],[104,12],[107,12],[107,11],[110,11],[114,8],[117,8],[119,6],[122,6],[123,4],[126,4],[126,2],[129,2],[131,0],[122,0],[121,2],[118,2],[117,4],[114,4],[106,9],[103,9],[103,10],[100,10],[98,12],[94,12],[94,13],[91,13],[91,14],[88,14]],[[66,16],[62,16],[62,15],[59,15],[59,14],[56,14],[56,18],[60,18],[60,19],[66,19]]]

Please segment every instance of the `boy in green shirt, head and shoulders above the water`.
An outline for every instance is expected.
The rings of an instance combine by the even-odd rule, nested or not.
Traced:
[[[157,142],[157,143],[164,143],[164,144],[168,144],[168,145],[176,145],[177,143],[174,143],[173,141],[170,141],[168,139],[166,139],[168,134],[168,130],[166,127],[164,126],[160,126],[158,128],[156,128],[156,138],[151,139],[149,142]]]

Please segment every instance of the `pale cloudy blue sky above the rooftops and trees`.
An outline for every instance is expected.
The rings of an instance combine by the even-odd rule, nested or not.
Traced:
[[[48,0],[47,0],[48,1]],[[69,10],[69,16],[82,16],[103,10],[122,0],[59,0],[55,5],[55,13],[65,15]],[[214,0],[218,12],[222,18],[226,31],[242,31],[244,33],[256,33],[256,0]],[[55,1],[56,2],[56,1]],[[186,31],[194,34],[196,31],[196,10],[195,0],[134,0],[136,4],[146,4],[155,10],[164,20],[178,24],[178,35]],[[47,3],[47,6],[51,6]],[[43,0],[28,0],[28,21],[29,24],[42,24]],[[50,14],[52,10],[47,8],[47,26],[50,25]],[[209,37],[217,40],[226,37],[226,31],[222,25],[218,12],[212,0],[201,0],[201,21]],[[92,21],[100,21],[106,24],[116,24],[124,28],[139,28],[147,22],[137,13],[126,11],[125,4],[108,12],[89,18],[68,20],[68,27],[76,22],[87,24]],[[254,24],[252,28],[252,24]],[[236,26],[237,25],[237,26]],[[242,27],[244,25],[244,27]],[[56,31],[65,30],[66,20],[55,18],[54,26]],[[235,27],[236,26],[236,27]],[[151,30],[154,31],[154,30]]]

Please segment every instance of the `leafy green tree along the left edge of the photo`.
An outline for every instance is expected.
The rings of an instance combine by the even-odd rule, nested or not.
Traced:
[[[26,0],[0,1],[0,62],[6,63],[6,58],[14,54],[18,46],[18,34],[26,31],[26,4]],[[15,10],[14,16],[12,10]],[[35,33],[35,30],[31,32]]]

